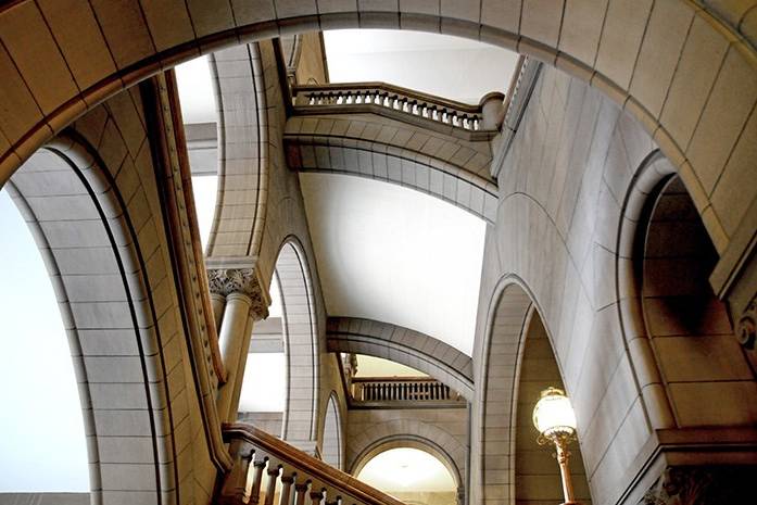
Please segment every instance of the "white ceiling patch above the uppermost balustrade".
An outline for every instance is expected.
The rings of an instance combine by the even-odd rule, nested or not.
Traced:
[[[470,39],[409,30],[324,33],[331,83],[380,80],[478,103],[505,92],[518,54]]]

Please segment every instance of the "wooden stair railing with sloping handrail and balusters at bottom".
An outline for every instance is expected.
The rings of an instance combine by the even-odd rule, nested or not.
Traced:
[[[218,505],[404,505],[250,425],[224,425],[235,464]]]

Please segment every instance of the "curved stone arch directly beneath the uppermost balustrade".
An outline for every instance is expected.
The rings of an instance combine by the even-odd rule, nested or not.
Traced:
[[[375,138],[350,136],[364,128],[376,131]],[[411,138],[418,148],[408,146]],[[496,184],[488,140],[463,140],[375,114],[340,114],[291,117],[285,143],[291,168],[395,184],[494,222]]]

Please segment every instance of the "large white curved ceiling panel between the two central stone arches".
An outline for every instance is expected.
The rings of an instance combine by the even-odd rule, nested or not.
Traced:
[[[404,326],[470,355],[484,223],[388,182],[300,181],[328,314]]]

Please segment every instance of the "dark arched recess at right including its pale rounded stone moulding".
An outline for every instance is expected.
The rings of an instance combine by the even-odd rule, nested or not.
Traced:
[[[702,399],[714,389],[718,397],[755,394],[755,373],[708,281],[717,258],[676,167],[659,151],[651,153],[623,203],[617,286],[623,332],[655,428],[729,424],[697,421],[699,414],[685,409],[692,394]],[[754,422],[757,415],[748,408],[718,414],[736,425]]]

